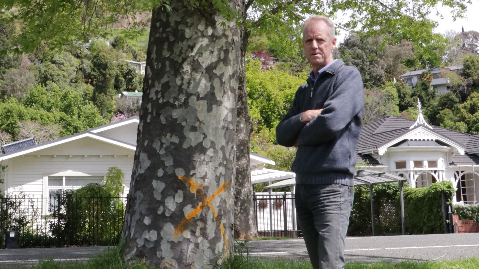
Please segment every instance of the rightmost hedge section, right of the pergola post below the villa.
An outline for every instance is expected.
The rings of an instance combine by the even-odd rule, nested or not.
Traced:
[[[451,204],[454,194],[451,181],[433,183],[428,188],[404,188],[404,215],[409,234],[444,233],[442,191]]]

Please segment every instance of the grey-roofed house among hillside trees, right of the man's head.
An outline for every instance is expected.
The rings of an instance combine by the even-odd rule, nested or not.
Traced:
[[[407,73],[402,74],[399,78],[404,81],[404,83],[408,84],[411,87],[416,86],[419,76],[421,76],[422,72],[428,71],[433,74],[433,81],[431,82],[431,86],[437,90],[437,94],[445,94],[449,91],[450,83],[449,79],[443,78],[441,75],[441,71],[452,71],[459,73],[462,70],[462,66],[450,66],[450,67],[433,67],[424,70],[416,70],[416,71],[409,71]]]

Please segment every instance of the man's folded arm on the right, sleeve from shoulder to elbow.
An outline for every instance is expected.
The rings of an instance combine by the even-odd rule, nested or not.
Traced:
[[[323,111],[301,130],[300,145],[315,146],[333,139],[364,106],[363,80],[359,71],[350,69],[336,80]]]

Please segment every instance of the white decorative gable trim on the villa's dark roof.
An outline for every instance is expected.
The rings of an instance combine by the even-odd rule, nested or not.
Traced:
[[[458,143],[456,143],[453,140],[450,140],[446,138],[445,136],[442,136],[440,134],[435,133],[433,130],[427,128],[424,125],[419,125],[416,128],[412,129],[411,131],[397,137],[394,140],[389,141],[386,144],[380,145],[377,148],[377,151],[379,155],[384,155],[388,147],[393,146],[397,143],[399,143],[402,140],[437,140],[441,141],[459,152],[460,155],[464,155],[464,151],[466,148]]]

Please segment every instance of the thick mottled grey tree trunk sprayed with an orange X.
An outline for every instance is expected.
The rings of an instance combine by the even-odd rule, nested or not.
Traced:
[[[123,226],[125,258],[160,268],[212,268],[233,247],[241,33],[188,3],[152,14]]]

